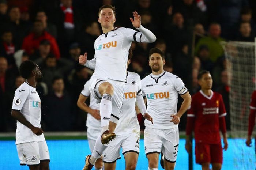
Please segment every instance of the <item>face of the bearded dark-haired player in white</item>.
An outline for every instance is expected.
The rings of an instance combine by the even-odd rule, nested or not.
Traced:
[[[148,61],[151,70],[154,72],[158,72],[163,69],[163,65],[165,65],[165,60],[162,59],[161,55],[158,53],[153,53],[150,56],[150,60]]]

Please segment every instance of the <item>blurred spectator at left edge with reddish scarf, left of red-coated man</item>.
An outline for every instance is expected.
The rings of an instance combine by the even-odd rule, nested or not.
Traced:
[[[10,30],[5,30],[1,40],[0,55],[7,59],[9,65],[14,65],[15,61],[13,54],[15,52],[15,45],[12,43],[12,32]]]

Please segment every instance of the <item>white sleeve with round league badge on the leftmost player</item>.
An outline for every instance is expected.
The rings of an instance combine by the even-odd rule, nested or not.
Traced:
[[[14,94],[14,99],[12,102],[12,109],[13,110],[21,110],[25,101],[29,97],[29,88],[27,86],[20,86],[17,88]]]

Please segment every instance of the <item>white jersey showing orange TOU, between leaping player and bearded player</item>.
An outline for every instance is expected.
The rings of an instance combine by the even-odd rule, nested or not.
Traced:
[[[140,126],[135,111],[137,95],[142,95],[140,76],[137,73],[128,72],[124,86],[122,112],[115,129],[116,135],[140,131]]]

